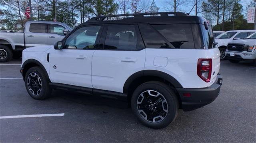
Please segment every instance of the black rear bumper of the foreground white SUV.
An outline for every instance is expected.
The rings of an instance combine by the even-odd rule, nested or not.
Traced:
[[[176,88],[182,102],[182,109],[184,111],[191,111],[201,108],[213,102],[220,92],[222,85],[222,76],[218,74],[216,81],[206,88]],[[183,94],[190,93],[190,97],[183,96]]]

